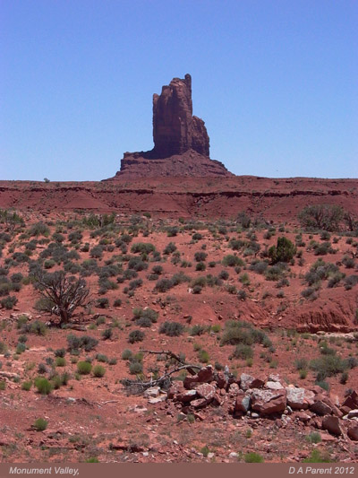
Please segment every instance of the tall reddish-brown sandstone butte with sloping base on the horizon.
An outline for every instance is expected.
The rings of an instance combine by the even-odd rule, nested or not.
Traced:
[[[115,178],[228,177],[220,161],[209,158],[209,135],[200,117],[192,115],[192,77],[173,78],[153,95],[154,148],[124,152]]]

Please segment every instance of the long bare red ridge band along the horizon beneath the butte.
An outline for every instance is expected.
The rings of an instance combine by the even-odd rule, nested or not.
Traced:
[[[358,179],[117,178],[102,182],[0,181],[0,207],[22,211],[73,209],[151,213],[161,217],[234,217],[246,211],[297,224],[308,204],[339,204],[358,215]]]

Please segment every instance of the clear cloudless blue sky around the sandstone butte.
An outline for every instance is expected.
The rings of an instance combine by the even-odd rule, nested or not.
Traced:
[[[0,178],[99,180],[192,74],[238,175],[358,177],[356,0],[1,0]]]

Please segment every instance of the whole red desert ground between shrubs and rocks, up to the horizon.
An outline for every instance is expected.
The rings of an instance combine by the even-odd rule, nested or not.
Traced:
[[[349,408],[343,405],[346,396],[358,388],[358,284],[345,287],[345,278],[357,271],[356,237],[331,233],[324,239],[320,233],[303,231],[297,246],[301,257],[294,257],[280,272],[279,280],[268,280],[251,268],[258,260],[266,260],[271,267],[264,251],[275,245],[278,237],[297,240],[297,213],[307,204],[339,204],[357,216],[357,185],[354,179],[252,177],[48,184],[2,181],[0,208],[17,210],[25,225],[9,233],[4,223],[0,224],[0,232],[4,232],[0,256],[3,283],[14,281],[13,274],[22,274],[20,290],[10,292],[18,300],[15,307],[0,309],[1,460],[80,462],[97,457],[100,462],[235,462],[256,452],[265,462],[301,462],[316,449],[331,460],[357,461],[358,441],[352,438],[358,432],[357,419],[352,413],[346,418]],[[251,218],[263,218],[266,225],[263,222],[256,229],[240,230],[238,223],[228,218],[241,211]],[[91,229],[84,222],[89,213],[110,212],[115,213],[112,229]],[[32,234],[31,226],[38,222],[47,223],[45,235]],[[191,222],[192,229],[185,229]],[[173,227],[177,233],[171,236]],[[81,237],[72,239],[75,231],[81,232]],[[197,238],[193,238],[195,233]],[[63,238],[58,239],[58,234]],[[128,240],[125,252],[124,236]],[[234,250],[231,239],[257,242],[260,251],[245,255],[246,246]],[[311,242],[317,245],[327,240],[331,249],[317,256]],[[37,335],[29,327],[21,328],[21,314],[28,317],[29,326],[36,320],[45,324],[54,316],[34,309],[39,296],[28,278],[28,259],[39,260],[43,266],[47,261],[48,272],[64,269],[62,258],[50,260],[53,248],[49,245],[54,246],[55,241],[64,246],[61,254],[72,253],[69,270],[81,270],[98,245],[103,254],[97,257],[98,269],[85,276],[92,304],[90,309],[76,311],[73,320],[79,324],[67,330],[47,327],[45,335]],[[166,253],[170,242],[176,251]],[[141,256],[132,251],[135,243],[152,244],[161,258],[155,258],[153,252]],[[196,267],[198,252],[208,255],[203,259],[205,270]],[[225,265],[227,255],[239,257],[241,265]],[[133,277],[128,279],[124,273],[129,271],[133,256],[148,266],[138,271],[136,280],[141,281],[131,290]],[[351,259],[349,266],[347,258]],[[303,297],[308,288],[305,274],[318,259],[336,267],[340,278],[334,287],[328,287],[328,278],[322,279],[310,297]],[[111,287],[100,293],[99,274],[109,265],[118,265],[119,272],[117,277],[109,276]],[[162,271],[153,280],[149,275],[155,265],[161,265]],[[183,282],[168,291],[156,290],[158,280],[180,273],[187,276]],[[221,282],[213,282],[218,277],[222,277]],[[192,293],[194,284],[199,283],[200,293]],[[238,295],[237,291],[245,294]],[[105,298],[108,307],[101,309],[98,299]],[[115,306],[118,299],[122,302]],[[136,308],[155,310],[158,320],[149,327],[139,326],[133,315]],[[160,333],[166,321],[181,324],[183,334]],[[242,352],[248,353],[245,357],[234,356],[235,346],[222,342],[230,321],[260,328],[266,342],[252,344],[251,352],[244,349]],[[106,329],[112,330],[107,339],[103,335]],[[130,343],[129,335],[135,330],[144,333],[143,341]],[[72,352],[67,341],[70,334],[90,335],[98,344],[89,352]],[[19,348],[21,341],[25,341],[25,348]],[[62,366],[55,363],[59,349],[64,349]],[[274,387],[272,382],[279,379],[284,387],[312,389],[320,406],[324,407],[325,401],[332,412],[320,416],[313,409],[300,412],[287,407],[285,412],[268,415],[253,410],[235,414],[239,385],[233,382],[230,387],[217,387],[214,381],[211,387],[217,390],[217,398],[210,403],[200,399],[197,409],[177,398],[151,404],[142,394],[128,395],[120,382],[123,378],[137,379],[130,371],[131,360],[123,357],[126,349],[142,365],[144,376],[139,373],[138,379],[155,378],[166,367],[175,366],[164,356],[141,356],[141,350],[183,353],[187,363],[200,367],[209,363],[217,372],[223,373],[227,365],[239,385],[242,373],[264,382],[270,374],[277,375],[279,378],[271,378],[265,387]],[[328,376],[322,383],[330,387],[325,392],[315,385],[311,360],[328,356],[345,364],[346,376],[342,371]],[[102,365],[105,375],[78,374],[77,361],[86,360],[92,366]],[[55,384],[64,372],[68,374],[66,384],[55,387],[49,395],[38,393],[34,380],[39,375]],[[178,375],[184,378],[183,373]],[[23,384],[30,381],[30,390],[24,389]],[[351,408],[358,408],[358,401],[351,402]],[[46,430],[34,430],[38,418],[48,422]],[[337,420],[342,433],[326,430],[327,419]]]

